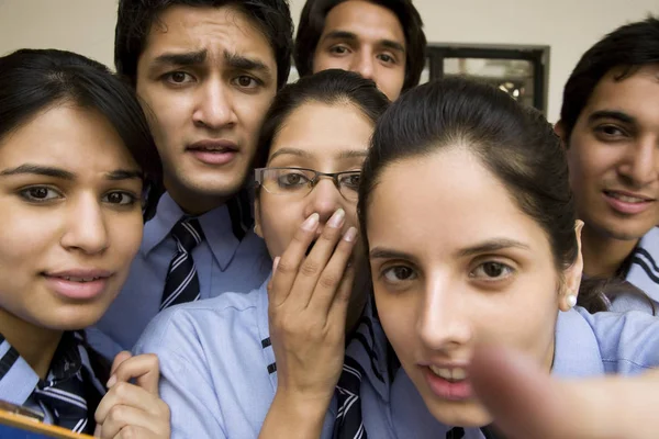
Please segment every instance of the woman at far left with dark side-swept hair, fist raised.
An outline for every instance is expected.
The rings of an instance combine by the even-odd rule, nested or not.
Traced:
[[[76,432],[169,437],[157,359],[105,368],[81,333],[119,294],[160,179],[141,106],[104,66],[0,58],[0,399]]]

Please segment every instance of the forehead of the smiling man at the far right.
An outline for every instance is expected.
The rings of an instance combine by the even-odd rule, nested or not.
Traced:
[[[659,64],[643,66],[617,79],[622,72],[621,68],[613,69],[600,80],[581,116],[618,111],[659,130]]]

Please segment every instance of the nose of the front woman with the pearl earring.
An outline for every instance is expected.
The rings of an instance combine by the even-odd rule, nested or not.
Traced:
[[[428,278],[424,300],[418,302],[416,330],[428,350],[454,350],[468,344],[472,329],[459,289],[447,279]]]

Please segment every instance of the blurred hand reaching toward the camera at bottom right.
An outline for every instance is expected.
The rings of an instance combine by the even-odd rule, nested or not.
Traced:
[[[520,354],[479,348],[470,376],[495,425],[511,439],[651,438],[659,378],[559,381]],[[652,385],[656,389],[652,389]]]

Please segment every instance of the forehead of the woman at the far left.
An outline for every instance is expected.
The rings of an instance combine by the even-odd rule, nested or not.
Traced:
[[[37,114],[0,143],[0,167],[38,165],[80,169],[137,168],[123,140],[98,111],[72,104]]]

